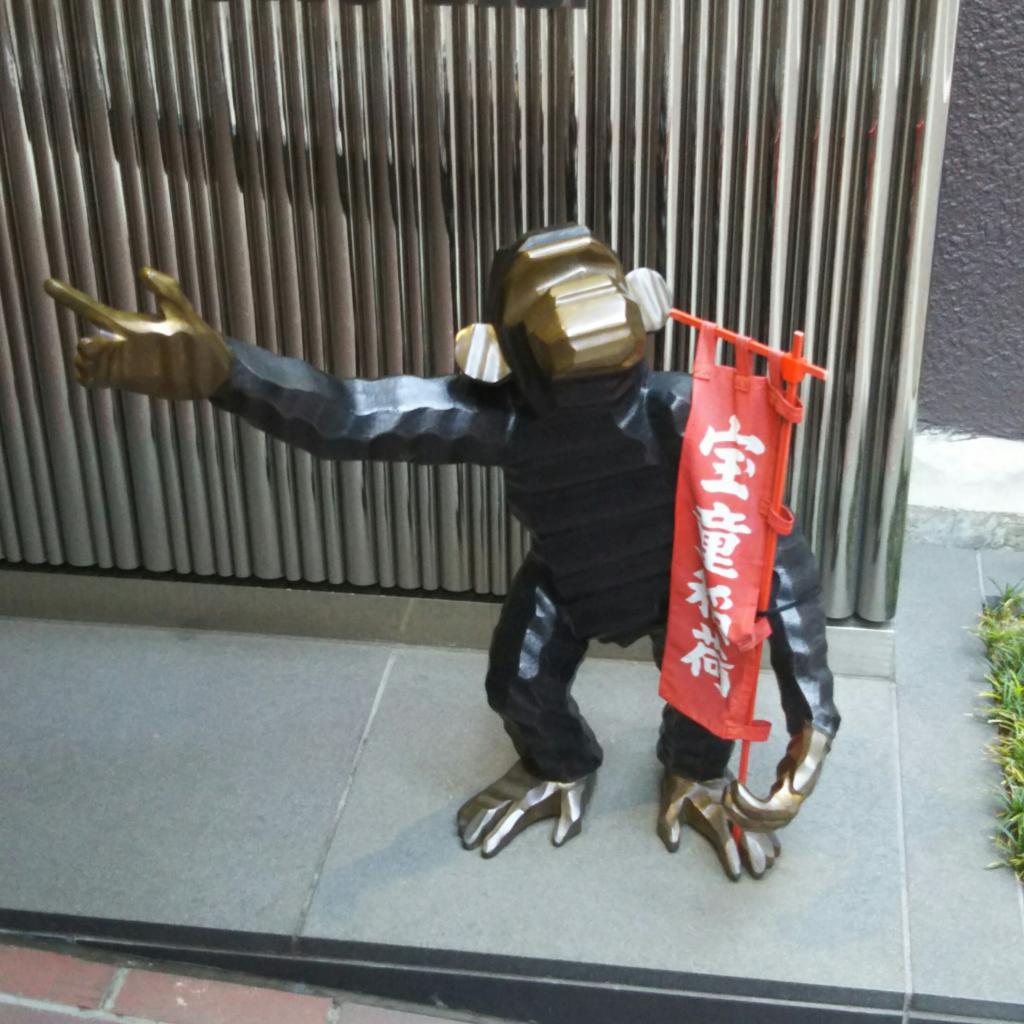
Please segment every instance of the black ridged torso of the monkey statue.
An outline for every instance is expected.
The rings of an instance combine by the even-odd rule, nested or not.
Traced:
[[[666,621],[689,397],[685,374],[639,367],[517,417],[508,502],[581,637],[628,643]]]

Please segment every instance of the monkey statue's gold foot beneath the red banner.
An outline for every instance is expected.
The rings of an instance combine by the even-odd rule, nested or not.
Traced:
[[[685,822],[711,843],[723,870],[733,882],[738,881],[744,867],[755,879],[760,879],[775,863],[782,848],[771,831],[740,831],[736,842],[722,804],[730,781],[726,777],[696,782],[666,771],[657,835],[669,852],[675,853]]]

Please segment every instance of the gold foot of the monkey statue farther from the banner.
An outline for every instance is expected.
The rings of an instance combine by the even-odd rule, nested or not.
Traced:
[[[592,773],[573,782],[552,782],[534,775],[517,761],[460,808],[462,845],[467,850],[480,847],[484,857],[493,857],[535,821],[557,818],[551,842],[561,846],[580,835],[596,779],[597,774]]]

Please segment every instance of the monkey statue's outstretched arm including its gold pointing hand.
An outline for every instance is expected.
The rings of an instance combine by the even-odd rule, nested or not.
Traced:
[[[78,346],[82,384],[210,398],[327,459],[496,465],[507,458],[514,412],[504,388],[456,376],[338,380],[300,359],[224,338],[173,278],[150,268],[141,276],[163,317],[114,309],[63,282],[46,282],[49,295],[99,329]]]

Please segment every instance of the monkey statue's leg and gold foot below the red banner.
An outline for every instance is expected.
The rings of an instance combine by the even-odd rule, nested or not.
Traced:
[[[651,635],[658,668],[665,652],[665,631]],[[665,766],[657,834],[670,852],[679,849],[683,824],[691,825],[714,847],[733,881],[742,867],[761,878],[775,862],[779,843],[774,835],[743,831],[736,842],[723,806],[732,776],[728,771],[734,741],[723,739],[699,722],[666,705],[657,739],[657,758]]]

